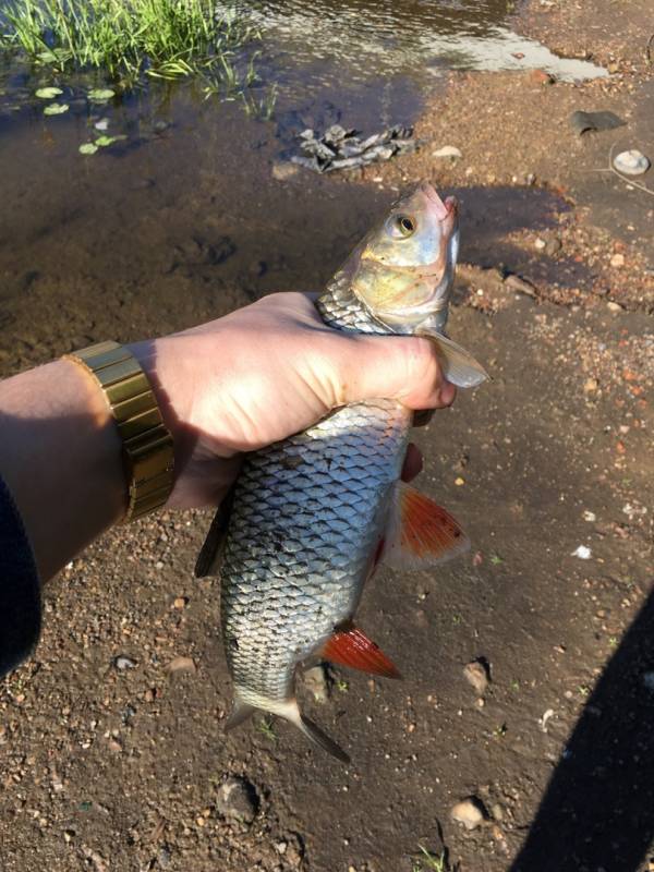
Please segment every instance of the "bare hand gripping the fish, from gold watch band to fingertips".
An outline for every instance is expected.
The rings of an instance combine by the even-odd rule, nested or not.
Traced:
[[[339,332],[313,296],[277,293],[223,318],[131,346],[175,444],[169,505],[216,505],[254,451],[315,424],[332,409],[375,397],[409,409],[449,405],[433,343]],[[420,470],[408,453],[404,476]]]

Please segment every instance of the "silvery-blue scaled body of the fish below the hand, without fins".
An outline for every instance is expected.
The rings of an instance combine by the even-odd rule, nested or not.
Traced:
[[[296,664],[354,610],[409,424],[391,400],[349,405],[246,461],[221,568],[226,650],[243,701],[283,703]]]

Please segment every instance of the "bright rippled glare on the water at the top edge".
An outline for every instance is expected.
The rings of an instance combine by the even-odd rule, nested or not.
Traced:
[[[502,26],[506,0],[262,0],[243,4],[277,46],[282,82],[308,90],[379,76],[425,77],[446,69],[524,70],[534,66],[565,81],[606,71],[557,58]]]

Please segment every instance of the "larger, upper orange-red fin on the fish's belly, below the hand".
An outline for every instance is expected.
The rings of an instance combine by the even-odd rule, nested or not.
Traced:
[[[461,525],[433,499],[398,482],[382,560],[398,569],[425,569],[470,548]]]

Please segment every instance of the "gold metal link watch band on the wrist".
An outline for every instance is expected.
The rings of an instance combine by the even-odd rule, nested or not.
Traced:
[[[147,376],[118,342],[98,342],[64,358],[82,364],[102,389],[120,433],[129,477],[124,521],[162,506],[173,485],[173,444]]]

